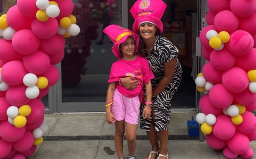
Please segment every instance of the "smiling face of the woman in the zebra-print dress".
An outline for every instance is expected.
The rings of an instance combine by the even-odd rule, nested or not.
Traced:
[[[157,28],[153,23],[150,22],[143,22],[140,24],[140,36],[143,38],[143,40],[155,38],[155,32]]]

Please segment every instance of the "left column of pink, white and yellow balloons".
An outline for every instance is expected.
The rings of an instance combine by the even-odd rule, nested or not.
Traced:
[[[64,37],[80,29],[72,0],[17,0],[0,17],[0,158],[25,159],[43,141],[41,98],[60,78]]]

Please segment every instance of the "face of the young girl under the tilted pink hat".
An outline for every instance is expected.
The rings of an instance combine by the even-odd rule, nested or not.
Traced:
[[[132,36],[127,37],[124,43],[120,44],[119,51],[122,52],[123,57],[133,56],[135,50],[135,41]]]

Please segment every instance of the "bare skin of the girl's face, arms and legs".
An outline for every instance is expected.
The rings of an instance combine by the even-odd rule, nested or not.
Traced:
[[[120,45],[120,51],[122,51],[124,60],[134,60],[137,55],[134,54],[135,50],[135,44],[134,40],[131,36],[129,36],[124,43],[121,43]],[[147,92],[147,101],[151,101],[152,96],[152,86],[151,81],[149,81],[147,84],[145,84],[146,92]],[[107,99],[106,101],[109,102],[113,99],[113,94],[116,89],[116,82],[109,83],[109,88],[107,91]],[[115,102],[115,101],[114,101]],[[115,123],[115,147],[116,147],[116,153],[118,156],[118,159],[124,157],[123,152],[123,137],[124,137],[124,131],[126,130],[126,139],[127,139],[127,145],[128,145],[128,151],[129,155],[133,156],[135,154],[136,145],[137,145],[137,139],[136,139],[136,129],[137,125],[126,123],[124,120],[121,121],[115,121],[115,116],[110,111],[111,106],[106,108],[106,122],[111,124]],[[150,105],[147,104],[144,108],[143,115],[145,116],[144,119],[147,119],[151,116],[151,109]],[[124,129],[125,128],[125,129]]]

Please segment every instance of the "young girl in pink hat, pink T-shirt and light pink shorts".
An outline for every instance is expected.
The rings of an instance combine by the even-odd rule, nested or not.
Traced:
[[[140,112],[140,102],[143,96],[142,87],[145,83],[147,101],[143,114],[144,119],[147,119],[151,115],[152,87],[150,79],[153,79],[154,75],[147,59],[136,55],[139,44],[139,36],[137,34],[118,25],[109,25],[103,32],[114,43],[112,51],[119,58],[112,64],[109,75],[109,88],[105,105],[106,122],[115,123],[115,147],[118,159],[125,159],[123,153],[125,129],[129,151],[127,159],[136,159],[134,155],[137,145],[136,128]],[[140,84],[133,90],[127,90],[120,83],[123,77],[139,79]]]

